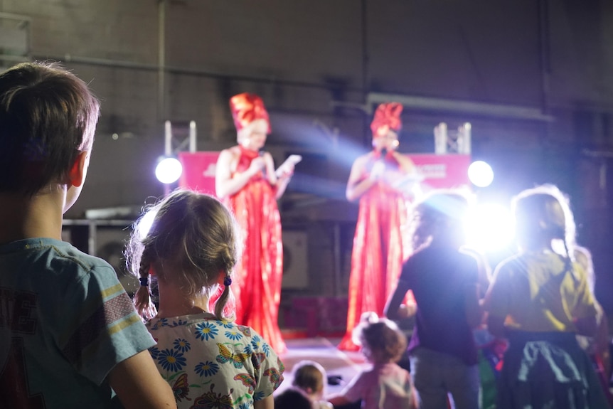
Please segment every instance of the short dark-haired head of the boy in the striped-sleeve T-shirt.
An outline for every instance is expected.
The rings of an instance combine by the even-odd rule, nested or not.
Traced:
[[[68,184],[80,154],[92,149],[99,114],[87,84],[58,64],[21,63],[2,73],[0,192],[32,196]]]

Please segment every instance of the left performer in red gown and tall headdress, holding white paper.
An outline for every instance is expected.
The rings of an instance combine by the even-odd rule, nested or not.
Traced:
[[[242,260],[232,285],[236,322],[251,326],[282,354],[286,347],[277,321],[283,247],[277,198],[284,193],[294,168],[284,164],[275,171],[270,153],[261,151],[270,122],[260,97],[235,95],[230,109],[238,145],[220,152],[215,191],[233,210],[244,235]]]

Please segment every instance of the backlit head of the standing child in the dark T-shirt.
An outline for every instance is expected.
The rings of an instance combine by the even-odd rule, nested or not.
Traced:
[[[464,244],[468,210],[469,196],[459,190],[432,191],[415,203],[410,223],[413,250],[434,241],[457,247]]]

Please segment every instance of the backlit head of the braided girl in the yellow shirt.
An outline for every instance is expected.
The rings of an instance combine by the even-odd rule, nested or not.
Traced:
[[[552,247],[553,240],[565,245],[565,256],[573,257],[568,246],[575,242],[575,221],[567,198],[553,185],[526,189],[511,203],[516,238],[526,250]]]

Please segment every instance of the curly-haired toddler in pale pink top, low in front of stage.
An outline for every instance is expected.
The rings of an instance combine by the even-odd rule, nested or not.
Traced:
[[[341,393],[330,396],[329,402],[336,407],[362,400],[363,409],[417,408],[410,373],[397,363],[407,348],[398,326],[365,312],[353,331],[353,342],[361,346],[373,367],[359,373]]]

